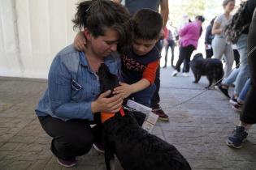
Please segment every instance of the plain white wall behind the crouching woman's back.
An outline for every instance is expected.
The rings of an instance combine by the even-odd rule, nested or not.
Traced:
[[[76,35],[77,0],[0,0],[0,76],[47,78]]]

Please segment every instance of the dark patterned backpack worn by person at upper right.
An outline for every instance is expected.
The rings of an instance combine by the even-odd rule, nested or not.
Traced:
[[[245,30],[245,28],[249,27],[249,23],[245,23],[244,16],[246,11],[246,3],[247,2],[241,2],[238,11],[236,11],[236,14],[232,16],[232,19],[224,28],[224,39],[228,42],[228,44],[236,44],[237,40],[241,36],[241,33]]]

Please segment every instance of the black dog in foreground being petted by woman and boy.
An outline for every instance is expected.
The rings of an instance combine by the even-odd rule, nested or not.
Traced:
[[[110,73],[105,64],[100,66],[98,76],[102,92],[118,86],[117,78]],[[114,154],[125,170],[191,169],[176,147],[141,128],[136,117],[141,113],[128,110],[124,110],[124,113],[124,117],[120,113],[115,113],[114,117],[102,125],[108,170],[111,169]]]

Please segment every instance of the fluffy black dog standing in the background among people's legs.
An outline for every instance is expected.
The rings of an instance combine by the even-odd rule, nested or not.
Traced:
[[[209,88],[213,82],[221,83],[223,78],[223,65],[219,59],[202,57],[202,53],[194,55],[193,60],[190,62],[191,70],[195,77],[193,83],[198,83],[202,75],[206,75],[209,80]]]

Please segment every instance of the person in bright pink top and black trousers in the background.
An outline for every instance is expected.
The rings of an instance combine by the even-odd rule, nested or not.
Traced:
[[[179,32],[180,36],[180,55],[179,60],[176,63],[176,70],[174,70],[171,76],[175,77],[180,72],[180,65],[184,62],[184,76],[189,73],[190,57],[194,49],[197,49],[199,37],[202,34],[202,23],[204,17],[198,15],[194,22],[188,23]]]

